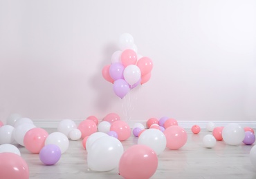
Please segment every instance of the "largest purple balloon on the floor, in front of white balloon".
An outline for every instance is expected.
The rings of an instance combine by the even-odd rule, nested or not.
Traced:
[[[39,152],[39,158],[45,165],[55,165],[61,155],[60,147],[54,144],[45,145]]]

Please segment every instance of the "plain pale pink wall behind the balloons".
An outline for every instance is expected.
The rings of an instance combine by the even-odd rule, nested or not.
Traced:
[[[253,0],[1,1],[0,118],[255,120],[255,8]],[[101,70],[124,32],[154,69],[120,100]]]

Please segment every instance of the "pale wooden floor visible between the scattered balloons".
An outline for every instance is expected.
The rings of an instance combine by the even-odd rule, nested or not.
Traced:
[[[47,129],[49,133],[56,129]],[[226,145],[217,141],[212,149],[203,147],[202,139],[209,131],[192,134],[189,129],[188,143],[179,150],[165,149],[158,156],[158,169],[152,178],[256,178],[256,166],[250,162],[249,152],[253,145]],[[137,143],[131,136],[122,142],[125,149]],[[86,150],[82,141],[70,141],[68,150],[56,165],[46,166],[38,154],[30,154],[19,147],[21,156],[28,163],[30,179],[34,178],[122,178],[118,168],[108,172],[90,171],[86,162]]]

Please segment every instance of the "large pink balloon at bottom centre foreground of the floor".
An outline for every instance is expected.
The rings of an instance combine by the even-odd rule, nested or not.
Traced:
[[[127,179],[150,178],[157,167],[158,158],[153,149],[146,145],[133,145],[120,158],[119,174]]]

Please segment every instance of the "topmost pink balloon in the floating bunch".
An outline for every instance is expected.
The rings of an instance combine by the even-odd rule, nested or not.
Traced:
[[[127,67],[128,65],[135,65],[137,62],[137,54],[134,50],[127,49],[121,54],[122,65]]]

